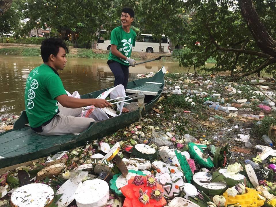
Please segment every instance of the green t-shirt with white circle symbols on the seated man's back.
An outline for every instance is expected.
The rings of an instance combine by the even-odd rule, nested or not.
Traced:
[[[55,98],[67,94],[56,71],[42,64],[34,68],[26,81],[25,109],[32,128],[53,118],[58,106]]]

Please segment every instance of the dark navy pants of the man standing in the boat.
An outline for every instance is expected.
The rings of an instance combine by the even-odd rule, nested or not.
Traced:
[[[108,66],[115,76],[114,87],[122,84],[127,89],[129,81],[129,66],[122,65],[116,61],[108,61]]]

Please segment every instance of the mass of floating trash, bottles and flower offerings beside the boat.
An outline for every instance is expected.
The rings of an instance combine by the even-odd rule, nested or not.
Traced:
[[[138,77],[151,75],[140,74]],[[158,186],[166,189],[164,198],[165,203],[171,202],[169,206],[176,206],[176,204],[172,204],[174,203],[171,201],[173,197],[175,197],[173,200],[182,200],[185,193],[190,193],[190,189],[193,190],[191,191],[193,197],[197,196],[196,199],[188,197],[192,202],[206,207],[213,199],[219,206],[221,202],[225,203],[225,199],[229,199],[227,193],[236,189],[235,187],[233,189],[232,186],[237,185],[237,183],[244,183],[247,189],[255,192],[254,189],[250,189],[254,186],[255,189],[260,191],[259,194],[264,193],[264,189],[266,189],[262,186],[269,185],[269,192],[276,195],[276,175],[273,170],[268,171],[268,166],[274,166],[272,163],[276,164],[275,151],[272,148],[267,148],[271,150],[266,149],[261,154],[261,149],[265,149],[264,147],[269,145],[269,143],[262,140],[262,135],[269,135],[273,140],[271,145],[276,144],[276,80],[273,78],[255,80],[252,78],[250,81],[234,83],[226,81],[224,78],[223,76],[215,77],[213,75],[192,76],[192,74],[189,74],[187,76],[183,73],[168,73],[165,75],[166,87],[162,96],[150,113],[142,117],[140,123],[133,123],[106,137],[99,137],[98,142],[87,142],[84,146],[68,150],[52,162],[50,162],[51,160],[47,161],[47,158],[41,158],[28,162],[26,166],[18,165],[16,169],[10,171],[1,171],[0,169],[0,186],[7,188],[5,193],[15,189],[23,182],[23,179],[26,179],[26,177],[19,176],[19,170],[25,170],[24,176],[27,176],[30,183],[36,183],[40,186],[46,184],[50,187],[43,193],[52,195],[52,190],[60,189],[60,191],[64,191],[63,193],[68,194],[68,192],[71,193],[72,187],[71,184],[70,187],[68,186],[66,180],[73,180],[74,176],[83,174],[84,176],[80,178],[80,182],[82,180],[84,183],[93,183],[94,179],[97,178],[110,183],[109,198],[114,200],[111,200],[110,205],[107,206],[122,206],[122,203],[127,201],[127,199],[124,200],[124,197],[128,198],[129,194],[125,194],[123,190],[123,194],[119,192],[123,185],[127,185],[127,182],[123,185],[118,183],[118,185],[120,184],[118,186],[117,181],[119,179],[124,181],[124,178],[121,178],[122,176],[117,173],[120,173],[120,171],[127,173],[123,170],[125,166],[128,170],[131,170],[131,173],[155,176],[156,181],[154,181],[162,184]],[[2,118],[1,127],[3,124],[11,126],[16,118],[16,116]],[[100,164],[101,158],[107,152],[114,153],[114,151],[109,151],[109,147],[115,144],[120,147],[122,153],[120,156],[123,157],[120,165],[116,165],[112,161],[109,163],[106,159]],[[142,145],[138,147],[137,144]],[[146,144],[146,146],[143,144]],[[137,145],[137,148],[135,145]],[[203,151],[206,147],[208,150]],[[273,148],[275,149],[275,147]],[[130,154],[131,151],[132,154]],[[156,153],[156,151],[159,151],[159,153]],[[183,157],[180,157],[182,160],[177,152],[183,153],[181,153]],[[175,156],[176,153],[177,156]],[[143,157],[150,161],[137,160],[135,157]],[[185,162],[183,159],[185,159]],[[249,159],[251,164],[243,166],[246,159]],[[167,164],[168,162],[172,163]],[[234,162],[240,163],[231,165]],[[248,163],[248,160],[246,163]],[[254,170],[251,167],[252,165],[261,167],[261,170],[257,168],[254,168]],[[210,175],[206,172],[209,172]],[[1,174],[3,175],[1,176]],[[113,176],[113,174],[116,175]],[[161,174],[166,174],[166,177],[161,178]],[[183,178],[184,175],[185,179]],[[214,175],[217,177],[214,178]],[[113,180],[110,180],[112,176]],[[229,176],[228,179],[227,176]],[[116,181],[117,177],[119,178]],[[127,177],[127,179],[130,179],[130,177]],[[166,179],[166,181],[162,182],[162,179]],[[187,183],[186,179],[192,179],[192,185]],[[212,179],[212,181],[206,184],[206,179]],[[90,181],[87,182],[86,180]],[[150,178],[148,178],[149,180]],[[99,180],[97,181],[99,182]],[[105,183],[104,181],[102,182]],[[216,184],[218,181],[223,181],[225,184],[218,185]],[[105,184],[106,188],[108,188],[108,183]],[[129,185],[131,185],[131,182]],[[135,185],[141,184],[137,183]],[[166,185],[170,185],[170,188],[166,188]],[[184,185],[188,186],[187,189]],[[210,188],[210,186],[220,185],[223,187],[219,189]],[[239,184],[238,187],[244,185]],[[73,190],[76,189],[73,188]],[[60,191],[56,193],[55,201],[61,198]],[[32,191],[26,192],[28,194],[26,197],[30,195],[30,199],[32,199],[32,193]],[[136,195],[132,191],[131,193],[131,195]],[[210,195],[207,196],[204,193],[208,195],[210,193]],[[224,197],[217,195],[222,193]],[[247,191],[245,190],[243,193],[247,193]],[[266,193],[264,197],[271,195],[269,198],[272,200],[274,198],[272,194]],[[202,195],[204,200],[199,200]],[[214,195],[216,196],[212,198]],[[95,196],[99,195],[95,194]],[[250,193],[248,193],[248,196],[250,199],[255,199]],[[15,195],[4,194],[1,202],[8,204],[13,197]],[[26,197],[24,198],[28,201]],[[221,201],[216,202],[218,197]],[[235,197],[235,199],[238,199],[238,197]],[[62,199],[66,198],[62,197]],[[60,202],[63,202],[62,199],[60,199]],[[270,202],[268,199],[264,198],[264,200]],[[190,206],[196,206],[191,201],[189,201]],[[31,202],[40,203],[42,201],[35,200]],[[187,200],[184,200],[184,202],[187,202]],[[75,205],[74,197],[66,204],[66,206],[71,207]]]

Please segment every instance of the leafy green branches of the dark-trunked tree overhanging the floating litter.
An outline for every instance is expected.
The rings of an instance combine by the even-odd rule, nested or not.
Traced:
[[[188,0],[185,6],[189,26],[185,28],[183,44],[191,51],[180,57],[181,64],[204,66],[207,58],[212,56],[217,64],[205,70],[231,71],[232,75],[241,74],[241,77],[255,72],[260,74],[262,69],[275,73],[276,55],[267,48],[260,48],[270,36],[270,47],[274,47],[276,54],[276,42],[273,42],[276,38],[275,5],[275,0],[254,1],[254,4],[252,0]],[[255,8],[257,13],[253,14]],[[245,13],[247,17],[244,17]],[[267,36],[258,36],[260,31],[252,30],[252,22],[258,22],[259,26],[263,24],[264,29],[260,29],[265,30]],[[235,72],[237,67],[240,70]]]

